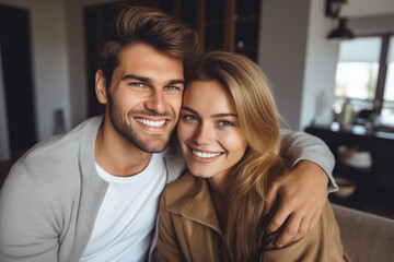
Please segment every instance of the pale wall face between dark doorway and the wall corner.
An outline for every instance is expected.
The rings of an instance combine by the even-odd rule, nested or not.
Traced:
[[[62,109],[70,128],[70,81],[62,0],[0,0],[30,10],[33,94],[37,140],[54,133],[54,111]]]

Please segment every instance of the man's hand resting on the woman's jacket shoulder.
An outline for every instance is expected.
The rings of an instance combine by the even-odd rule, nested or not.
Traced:
[[[276,239],[278,248],[299,240],[316,227],[327,201],[327,183],[328,177],[318,165],[301,160],[271,184],[265,202],[265,214],[274,205],[276,207],[266,230],[274,233],[287,222]]]

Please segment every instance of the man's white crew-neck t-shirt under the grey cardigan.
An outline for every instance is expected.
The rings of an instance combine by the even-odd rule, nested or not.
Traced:
[[[163,153],[153,154],[148,167],[132,177],[113,176],[97,164],[96,169],[109,187],[81,261],[144,261],[151,245],[160,193],[165,186]]]

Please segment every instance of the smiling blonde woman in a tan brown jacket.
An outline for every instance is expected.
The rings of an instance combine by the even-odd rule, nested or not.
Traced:
[[[316,230],[281,249],[262,204],[285,174],[279,114],[259,68],[206,55],[187,75],[177,135],[189,171],[166,187],[159,261],[347,261],[327,203]]]

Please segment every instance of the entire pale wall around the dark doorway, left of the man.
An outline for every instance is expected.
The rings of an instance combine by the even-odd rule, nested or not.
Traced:
[[[83,7],[111,0],[0,0],[30,11],[37,141],[54,134],[57,109],[65,131],[86,119]],[[0,84],[0,162],[10,158],[3,91]]]

